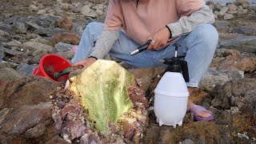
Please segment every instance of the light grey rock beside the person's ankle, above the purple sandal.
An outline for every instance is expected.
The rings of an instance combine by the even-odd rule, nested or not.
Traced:
[[[240,78],[244,78],[244,72],[241,70],[207,70],[199,83],[199,87],[213,90],[217,85],[237,81]]]

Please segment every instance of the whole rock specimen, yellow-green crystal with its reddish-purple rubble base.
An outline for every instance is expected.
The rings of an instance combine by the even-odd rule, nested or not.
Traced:
[[[117,62],[94,62],[70,78],[65,91],[59,88],[51,98],[55,128],[67,142],[142,140],[149,116],[145,90]]]

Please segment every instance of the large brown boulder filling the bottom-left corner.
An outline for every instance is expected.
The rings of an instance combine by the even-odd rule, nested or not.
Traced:
[[[50,103],[6,108],[0,111],[0,115],[1,143],[47,142],[58,134],[50,119]]]

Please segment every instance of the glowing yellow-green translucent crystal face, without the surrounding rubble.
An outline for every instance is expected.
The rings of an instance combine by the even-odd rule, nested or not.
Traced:
[[[108,122],[133,108],[127,88],[135,84],[132,74],[114,61],[98,60],[72,79],[71,90],[80,95],[91,122],[108,134]]]

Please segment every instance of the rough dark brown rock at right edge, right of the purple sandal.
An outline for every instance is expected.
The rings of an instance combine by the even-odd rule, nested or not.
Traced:
[[[239,110],[253,112],[256,102],[255,90],[256,81],[254,78],[242,78],[237,82],[226,82],[226,84],[216,86],[212,95],[214,107],[223,110],[230,109],[230,106],[238,106]]]

